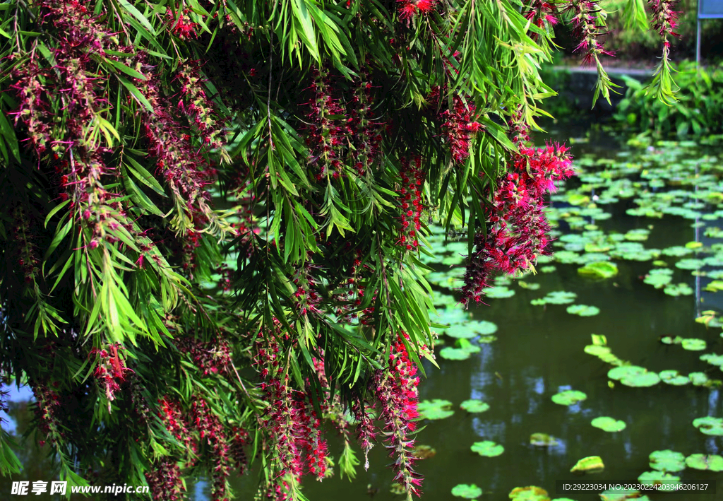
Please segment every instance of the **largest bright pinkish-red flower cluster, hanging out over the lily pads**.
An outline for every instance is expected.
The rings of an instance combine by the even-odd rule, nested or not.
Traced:
[[[526,132],[516,131],[518,137]],[[465,306],[482,301],[494,271],[514,274],[529,269],[538,256],[549,253],[550,230],[543,211],[544,197],[555,190],[555,181],[573,174],[568,148],[548,144],[529,148],[518,143],[519,154],[500,180],[494,194],[494,210],[488,211],[488,232],[475,236],[469,258],[462,300]]]

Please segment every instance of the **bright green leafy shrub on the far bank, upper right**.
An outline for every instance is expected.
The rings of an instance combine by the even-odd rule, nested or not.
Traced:
[[[680,87],[671,106],[646,94],[643,83],[624,77],[628,90],[617,106],[615,120],[632,130],[656,135],[699,135],[723,132],[723,63],[696,69],[695,62],[673,65]]]

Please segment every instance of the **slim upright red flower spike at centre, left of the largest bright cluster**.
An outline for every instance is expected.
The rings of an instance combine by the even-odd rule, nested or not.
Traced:
[[[401,159],[402,169],[399,172],[402,185],[399,188],[398,203],[401,209],[401,230],[398,245],[406,250],[419,247],[419,230],[422,228],[422,189],[424,188],[424,170],[422,158],[414,158],[414,166],[408,159]]]

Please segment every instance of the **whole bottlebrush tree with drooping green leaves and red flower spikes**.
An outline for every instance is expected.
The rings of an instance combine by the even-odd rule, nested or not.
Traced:
[[[667,54],[672,2],[651,4]],[[529,146],[538,68],[568,21],[609,96],[602,20],[580,0],[1,1],[0,371],[33,389],[61,479],[179,500],[205,476],[228,500],[255,464],[260,499],[300,500],[378,439],[419,494],[427,226],[469,235],[464,305],[547,252],[572,171]]]

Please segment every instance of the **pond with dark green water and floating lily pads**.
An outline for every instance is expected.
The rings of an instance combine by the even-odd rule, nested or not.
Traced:
[[[600,489],[562,492],[557,484],[637,483],[655,468],[709,487],[643,492],[649,500],[723,499],[723,492],[713,494],[721,473],[696,469],[717,469],[723,459],[690,458],[722,452],[723,422],[693,425],[706,416],[723,418],[723,356],[714,356],[723,353],[723,301],[716,292],[723,290],[723,166],[715,157],[722,151],[644,138],[618,147],[609,139],[576,141],[579,176],[560,187],[549,209],[557,224],[555,256],[541,260],[536,274],[498,280],[487,305],[467,312],[454,296],[466,243],[445,244],[436,229],[430,243],[440,257],[428,260],[435,269],[428,279],[435,285],[435,319],[450,327],[435,329],[440,368],[425,363],[428,377],[419,392],[422,401],[449,403],[432,405],[429,417],[449,416],[425,419],[417,435],[418,444],[436,451],[418,463],[423,500],[455,499],[453,487],[475,484],[481,500],[509,500],[515,487],[539,486],[549,499],[593,501],[601,499]],[[640,369],[610,372],[628,362]],[[553,395],[565,390],[583,392],[578,396],[584,400],[566,402],[569,394],[563,394],[555,403]],[[487,405],[463,410],[461,403],[470,399]],[[440,409],[453,412],[435,416]],[[14,404],[13,414],[29,417],[22,403]],[[591,424],[600,417],[612,418],[596,424],[613,431]],[[531,445],[532,434],[555,442]],[[494,443],[479,445],[478,453],[471,449],[476,442]],[[687,464],[665,453],[651,468],[649,456],[661,450],[680,452]],[[339,452],[341,445],[332,441],[330,453]],[[603,471],[570,473],[590,456],[602,459]],[[29,468],[23,479],[50,480],[41,474],[37,451],[25,450],[22,459]],[[322,483],[307,481],[304,493],[311,501],[403,499],[391,492],[382,445],[369,459],[371,468],[359,466],[356,480],[337,473]],[[241,499],[252,499],[255,481],[253,472],[234,481]],[[9,492],[9,479],[0,489]],[[192,500],[209,499],[204,482],[189,491]]]

